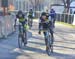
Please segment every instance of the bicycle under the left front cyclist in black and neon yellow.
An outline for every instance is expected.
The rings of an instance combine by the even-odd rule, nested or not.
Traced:
[[[26,46],[27,44],[27,31],[26,28],[24,28],[24,26],[19,23],[19,35],[18,35],[18,45],[19,48],[22,48],[22,46]]]

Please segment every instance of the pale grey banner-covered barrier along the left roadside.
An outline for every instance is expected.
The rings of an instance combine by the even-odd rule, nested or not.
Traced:
[[[12,32],[14,32],[14,16],[0,16],[0,38],[7,38]]]

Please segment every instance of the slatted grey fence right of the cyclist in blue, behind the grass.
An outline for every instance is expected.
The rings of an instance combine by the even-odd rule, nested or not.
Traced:
[[[66,13],[56,14],[56,21],[72,24],[73,20],[74,20],[74,14],[66,14]]]

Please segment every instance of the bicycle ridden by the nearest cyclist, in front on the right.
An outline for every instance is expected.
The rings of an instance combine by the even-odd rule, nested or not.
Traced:
[[[50,30],[46,30],[46,36],[45,36],[45,39],[46,39],[46,52],[47,54],[50,56],[51,53],[53,53],[53,37],[51,36],[50,34]]]

